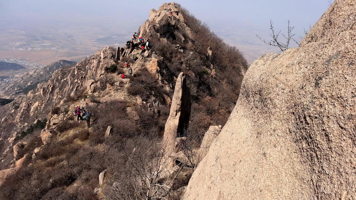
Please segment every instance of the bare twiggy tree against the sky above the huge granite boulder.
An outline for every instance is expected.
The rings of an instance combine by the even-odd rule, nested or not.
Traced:
[[[274,47],[278,47],[279,49],[281,49],[281,51],[286,51],[287,49],[289,49],[289,44],[290,42],[294,41],[295,43],[297,43],[299,45],[299,43],[297,42],[297,40],[295,40],[293,37],[295,36],[295,34],[292,33],[294,26],[291,27],[289,24],[289,20],[288,20],[288,34],[284,35],[282,33],[282,36],[286,39],[286,42],[281,42],[278,40],[279,34],[281,33],[281,31],[279,31],[278,33],[276,33],[274,31],[274,26],[273,26],[273,22],[271,20],[270,22],[270,26],[269,29],[272,31],[272,34],[270,35],[272,37],[272,40],[270,40],[269,42],[266,42],[265,40],[263,40],[260,36],[258,36],[256,34],[256,36],[264,43],[268,44],[269,46],[274,46]]]

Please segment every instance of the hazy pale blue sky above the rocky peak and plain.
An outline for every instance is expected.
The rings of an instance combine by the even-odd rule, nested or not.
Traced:
[[[106,24],[136,31],[148,19],[152,8],[158,9],[162,0],[0,0],[0,22],[62,22]],[[303,36],[329,7],[327,0],[179,0],[198,19],[225,41],[245,48],[265,48],[256,33],[268,39],[269,21],[276,29],[284,30],[287,20],[295,33]],[[234,36],[234,37],[233,37]],[[252,46],[248,46],[250,44]],[[247,45],[247,47],[246,47]],[[257,45],[257,47],[253,46]],[[267,49],[268,50],[267,50]],[[278,48],[271,48],[278,51]],[[247,50],[246,50],[247,51]],[[248,51],[252,51],[251,49]]]

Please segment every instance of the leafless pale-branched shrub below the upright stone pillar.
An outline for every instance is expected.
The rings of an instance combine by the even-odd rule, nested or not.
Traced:
[[[128,155],[127,171],[115,178],[121,182],[110,184],[107,195],[112,199],[167,199],[181,169],[168,168],[165,152],[157,144],[137,147]]]

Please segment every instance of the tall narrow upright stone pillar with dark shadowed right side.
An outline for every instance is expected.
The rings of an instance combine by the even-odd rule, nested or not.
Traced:
[[[168,157],[171,153],[176,153],[174,149],[177,136],[182,137],[184,131],[188,128],[191,104],[189,87],[182,72],[179,74],[176,86],[174,87],[171,111],[164,128],[162,142]],[[173,159],[171,161],[170,163],[173,167]]]

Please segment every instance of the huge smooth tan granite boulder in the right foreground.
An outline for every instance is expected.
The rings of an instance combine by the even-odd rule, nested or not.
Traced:
[[[356,198],[355,24],[336,0],[299,48],[251,65],[183,199]]]

